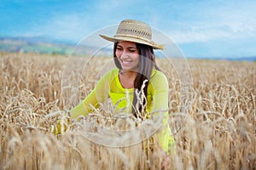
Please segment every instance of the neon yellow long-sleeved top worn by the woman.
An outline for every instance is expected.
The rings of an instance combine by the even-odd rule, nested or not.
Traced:
[[[166,76],[160,71],[153,70],[148,82],[147,110],[149,113],[152,111],[155,111],[156,114],[160,112],[160,114],[163,114],[165,117],[162,123],[164,130],[157,133],[157,139],[162,149],[167,152],[169,150],[171,137],[171,129],[168,126],[168,88]],[[123,109],[123,111],[131,112],[133,91],[133,88],[127,89],[122,87],[119,82],[119,69],[115,68],[108,71],[108,73],[97,82],[96,87],[83,102],[70,111],[71,116],[74,119],[82,115],[87,116],[93,111],[90,105],[97,108],[99,103],[104,103],[104,101],[109,98],[113,102],[113,105],[116,106],[116,111]]]

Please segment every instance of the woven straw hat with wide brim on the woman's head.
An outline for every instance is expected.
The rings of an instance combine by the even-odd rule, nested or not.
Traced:
[[[152,46],[154,49],[164,48],[163,45],[159,45],[151,40],[152,31],[150,26],[138,20],[122,20],[113,37],[104,35],[100,36],[110,42],[117,42],[121,40],[146,44]]]

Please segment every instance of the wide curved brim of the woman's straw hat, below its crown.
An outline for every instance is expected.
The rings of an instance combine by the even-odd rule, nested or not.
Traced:
[[[155,42],[148,42],[146,40],[143,40],[138,37],[127,37],[127,36],[115,36],[115,37],[108,37],[100,34],[100,37],[102,37],[105,40],[108,40],[109,42],[118,42],[118,41],[127,41],[127,42],[137,42],[142,43],[148,46],[151,46],[154,49],[163,49],[163,45],[159,45]]]

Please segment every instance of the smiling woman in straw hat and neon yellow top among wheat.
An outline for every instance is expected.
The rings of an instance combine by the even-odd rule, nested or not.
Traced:
[[[121,21],[114,37],[100,36],[114,42],[113,59],[117,68],[108,71],[97,82],[83,102],[70,111],[70,116],[74,119],[87,116],[93,111],[91,105],[98,107],[106,99],[111,99],[117,112],[126,111],[142,120],[151,112],[161,114],[163,130],[157,138],[161,148],[168,153],[173,143],[172,138],[170,143],[168,126],[168,82],[154,57],[154,49],[163,47],[151,40],[150,26],[137,20]]]

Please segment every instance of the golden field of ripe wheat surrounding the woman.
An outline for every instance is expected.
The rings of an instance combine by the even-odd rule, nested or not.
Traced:
[[[83,133],[88,119],[73,122],[58,136],[49,131],[57,119],[49,114],[61,115],[70,107],[61,88],[67,57],[2,53],[0,61],[0,169],[160,169],[158,147],[143,150],[148,140],[126,147],[88,140]],[[79,79],[79,96],[70,98],[74,103],[90,93],[105,62],[91,61]],[[157,62],[170,86],[169,124],[176,141],[170,168],[256,169],[256,63],[189,59],[193,84],[189,98],[181,101],[175,71]],[[183,111],[182,102],[189,109]],[[109,111],[101,108],[96,114]]]

